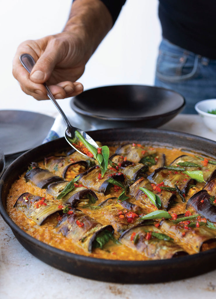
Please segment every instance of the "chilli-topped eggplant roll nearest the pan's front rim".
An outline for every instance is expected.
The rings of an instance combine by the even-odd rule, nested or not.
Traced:
[[[156,234],[154,235],[154,233]],[[164,239],[158,239],[155,236]],[[150,260],[163,260],[187,255],[183,248],[167,239],[170,238],[161,234],[161,231],[154,225],[138,225],[124,231],[119,241],[133,250],[141,252]]]

